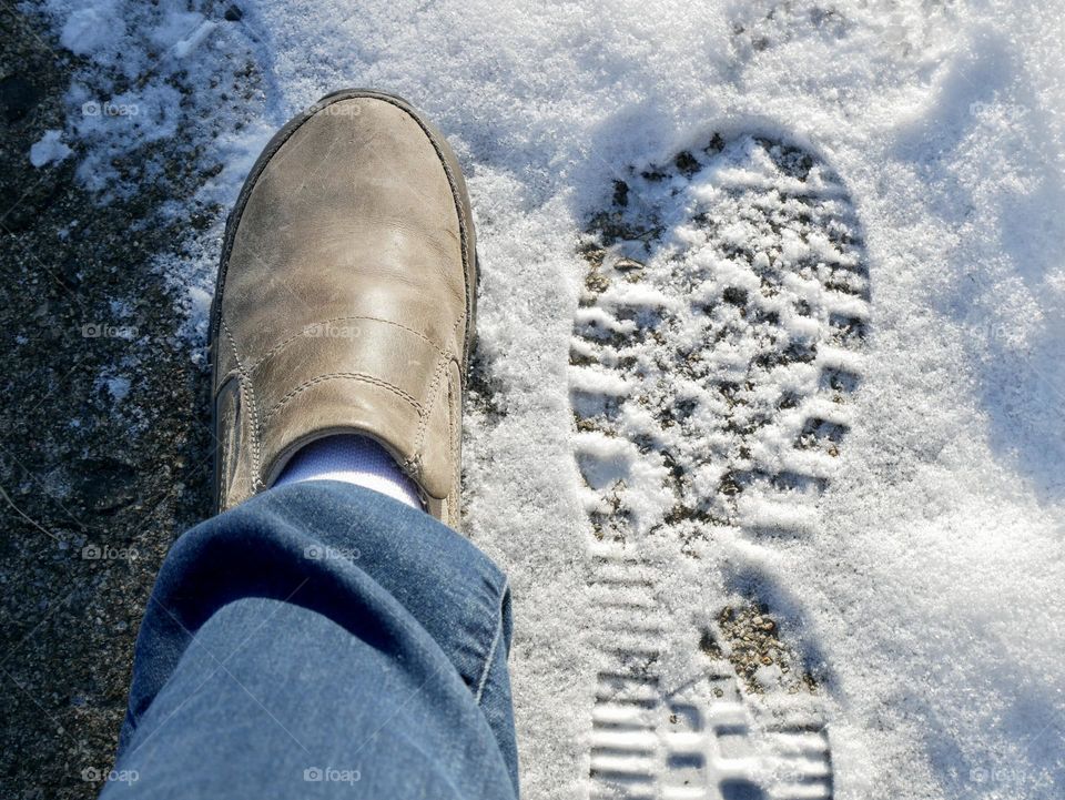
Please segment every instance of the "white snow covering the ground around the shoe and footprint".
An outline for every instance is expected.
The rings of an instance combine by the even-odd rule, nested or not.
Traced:
[[[1061,797],[1059,8],[239,4],[226,20],[224,4],[47,0],[62,43],[89,63],[68,130],[27,158],[74,148],[105,199],[125,191],[106,169],[114,153],[148,138],[165,161],[169,140],[191,138],[205,168],[223,164],[203,199],[226,205],[272,131],[329,90],[387,89],[438,122],[468,174],[481,352],[505,412],[469,415],[467,510],[515,587],[526,797],[588,794],[607,668],[589,645],[601,610],[569,394],[578,241],[628,165],[668,162],[716,132],[799,145],[839,176],[864,230],[871,334],[808,531],[710,527],[698,561],[659,577],[693,575],[708,617],[740,601],[730,576],[772,585],[781,638],[819,679],[838,797]],[[226,89],[246,85],[247,98]],[[161,259],[201,337],[220,233],[191,234],[192,262]],[[691,619],[671,624],[682,639]]]

